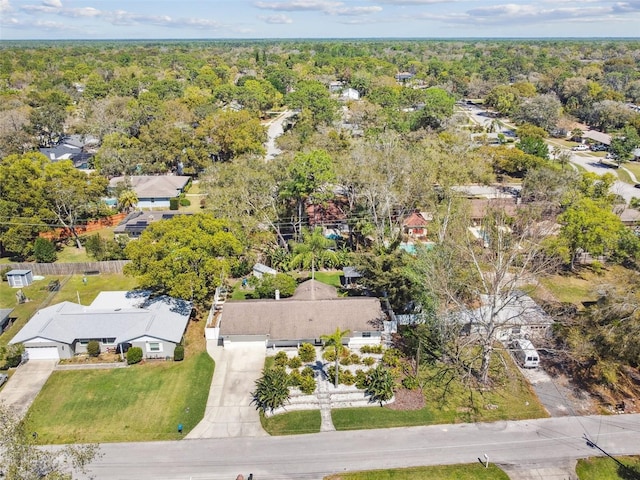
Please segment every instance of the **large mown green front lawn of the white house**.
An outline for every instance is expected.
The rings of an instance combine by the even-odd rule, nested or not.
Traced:
[[[213,370],[211,357],[199,352],[183,362],[56,371],[29,410],[27,428],[42,444],[175,440],[202,419]]]

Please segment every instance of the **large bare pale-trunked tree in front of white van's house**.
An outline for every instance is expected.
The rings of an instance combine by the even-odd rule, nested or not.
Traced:
[[[521,286],[534,282],[552,261],[542,254],[548,227],[536,220],[535,211],[523,209],[513,218],[502,209],[489,211],[480,226],[482,242],[465,232],[466,222],[458,221],[443,242],[419,251],[411,266],[442,328],[450,328],[452,319],[471,325],[471,335],[460,337],[448,357],[465,362],[462,370],[473,371],[482,385],[490,382],[499,333],[530,308],[518,300]],[[467,359],[460,360],[456,350]]]

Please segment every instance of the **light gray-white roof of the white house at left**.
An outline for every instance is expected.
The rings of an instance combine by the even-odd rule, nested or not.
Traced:
[[[191,314],[189,302],[166,296],[149,298],[148,294],[118,302],[127,292],[105,293],[120,295],[107,295],[95,306],[62,302],[39,310],[9,343],[33,338],[66,344],[91,338],[115,338],[116,343],[143,336],[174,343],[182,339]],[[103,306],[109,300],[111,306]]]

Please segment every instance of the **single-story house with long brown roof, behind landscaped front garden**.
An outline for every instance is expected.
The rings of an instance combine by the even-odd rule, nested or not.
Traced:
[[[224,347],[322,345],[320,337],[336,328],[350,331],[343,342],[353,347],[379,344],[385,320],[377,298],[338,297],[334,287],[308,280],[291,298],[225,302],[215,328]]]

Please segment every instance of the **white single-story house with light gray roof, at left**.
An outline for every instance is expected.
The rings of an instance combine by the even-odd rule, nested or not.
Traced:
[[[89,306],[62,302],[39,310],[11,339],[32,360],[71,358],[90,340],[101,351],[140,347],[145,358],[173,357],[187,328],[192,305],[147,291],[101,292]]]

